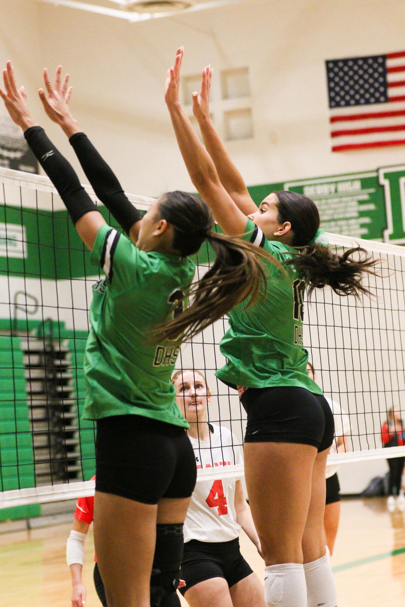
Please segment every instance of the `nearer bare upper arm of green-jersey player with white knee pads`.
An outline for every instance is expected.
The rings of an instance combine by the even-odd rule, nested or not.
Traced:
[[[246,227],[247,217],[237,208],[220,181],[202,180],[196,187],[213,211],[214,219],[228,236],[240,236]]]

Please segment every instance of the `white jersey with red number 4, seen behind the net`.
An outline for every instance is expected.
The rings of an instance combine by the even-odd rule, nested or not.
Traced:
[[[189,436],[198,468],[242,464],[241,447],[228,428],[209,424],[209,439],[197,441]],[[236,478],[217,478],[197,483],[184,523],[184,541],[230,541],[239,537],[236,521]]]

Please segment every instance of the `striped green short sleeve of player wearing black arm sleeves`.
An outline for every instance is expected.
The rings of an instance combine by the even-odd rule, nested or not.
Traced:
[[[90,261],[102,268],[115,294],[135,287],[148,268],[148,254],[115,228],[100,226]]]

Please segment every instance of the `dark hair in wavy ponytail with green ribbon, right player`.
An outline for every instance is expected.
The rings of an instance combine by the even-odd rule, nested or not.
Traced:
[[[367,251],[357,246],[342,255],[331,246],[311,243],[319,228],[319,212],[315,202],[298,192],[274,192],[278,198],[277,208],[280,223],[290,222],[294,234],[291,246],[298,249],[296,256],[286,260],[285,265],[293,265],[308,285],[308,297],[316,288],[331,287],[339,295],[370,296],[362,285],[363,275],[380,276],[373,267],[381,260],[373,260]],[[356,256],[356,258],[353,257]]]

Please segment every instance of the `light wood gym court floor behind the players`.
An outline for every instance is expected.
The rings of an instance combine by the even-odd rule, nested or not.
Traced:
[[[70,524],[60,524],[0,535],[0,607],[70,607],[65,560],[69,531]],[[241,546],[263,578],[263,561],[244,535]],[[100,606],[92,580],[93,557],[90,529],[83,570],[86,607]],[[383,498],[342,501],[332,565],[339,607],[403,607],[405,513],[396,510],[390,514]]]

